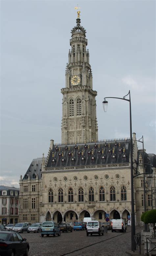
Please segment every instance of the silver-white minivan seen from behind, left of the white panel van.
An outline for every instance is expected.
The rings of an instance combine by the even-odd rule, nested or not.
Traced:
[[[87,229],[86,229],[86,233],[87,236],[89,236],[89,234],[98,234],[99,236],[104,233],[104,229],[102,227],[102,224],[100,221],[98,220],[94,220],[94,221],[88,221],[87,222]]]

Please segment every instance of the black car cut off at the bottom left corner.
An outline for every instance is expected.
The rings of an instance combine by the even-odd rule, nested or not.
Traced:
[[[14,256],[24,255],[27,256],[29,251],[29,243],[26,238],[22,238],[18,233],[12,231],[0,232],[0,255],[1,256]]]

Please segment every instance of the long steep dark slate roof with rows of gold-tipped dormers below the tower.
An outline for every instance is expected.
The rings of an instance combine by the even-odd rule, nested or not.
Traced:
[[[67,144],[67,145],[54,145],[49,153],[46,167],[52,167],[55,162],[55,167],[62,166],[79,166],[79,165],[91,165],[104,164],[102,158],[105,158],[105,164],[110,163],[123,163],[130,161],[130,140],[128,142],[128,149],[125,148],[125,140],[120,141],[100,141],[97,143],[82,143],[82,144]],[[124,153],[125,150],[125,153]],[[89,154],[90,151],[90,154]],[[114,151],[114,153],[113,153]],[[121,151],[121,153],[120,153]],[[109,153],[110,152],[110,153]],[[123,154],[125,154],[125,160],[123,161]],[[113,161],[113,155],[115,156],[115,162]],[[82,163],[82,157],[84,163]],[[74,161],[72,161],[72,159]],[[94,160],[92,160],[94,159]],[[74,162],[74,164],[73,164]]]

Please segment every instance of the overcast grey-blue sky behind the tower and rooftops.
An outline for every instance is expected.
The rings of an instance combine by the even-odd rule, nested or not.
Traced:
[[[33,158],[61,143],[62,94],[71,29],[81,7],[97,91],[98,139],[132,132],[156,153],[155,1],[1,0],[1,178],[18,187]],[[138,143],[142,148],[142,143]]]

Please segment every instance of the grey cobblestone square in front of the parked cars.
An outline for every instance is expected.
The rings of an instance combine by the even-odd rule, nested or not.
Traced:
[[[140,230],[141,228],[137,229],[136,233]],[[23,233],[21,235],[30,244],[29,256],[125,256],[125,251],[131,248],[130,231],[131,228],[127,227],[126,233],[112,233],[111,230],[108,230],[108,233],[104,233],[104,236],[92,235],[89,237],[86,236],[86,231],[61,233],[60,237],[44,236],[42,238],[40,233]]]

